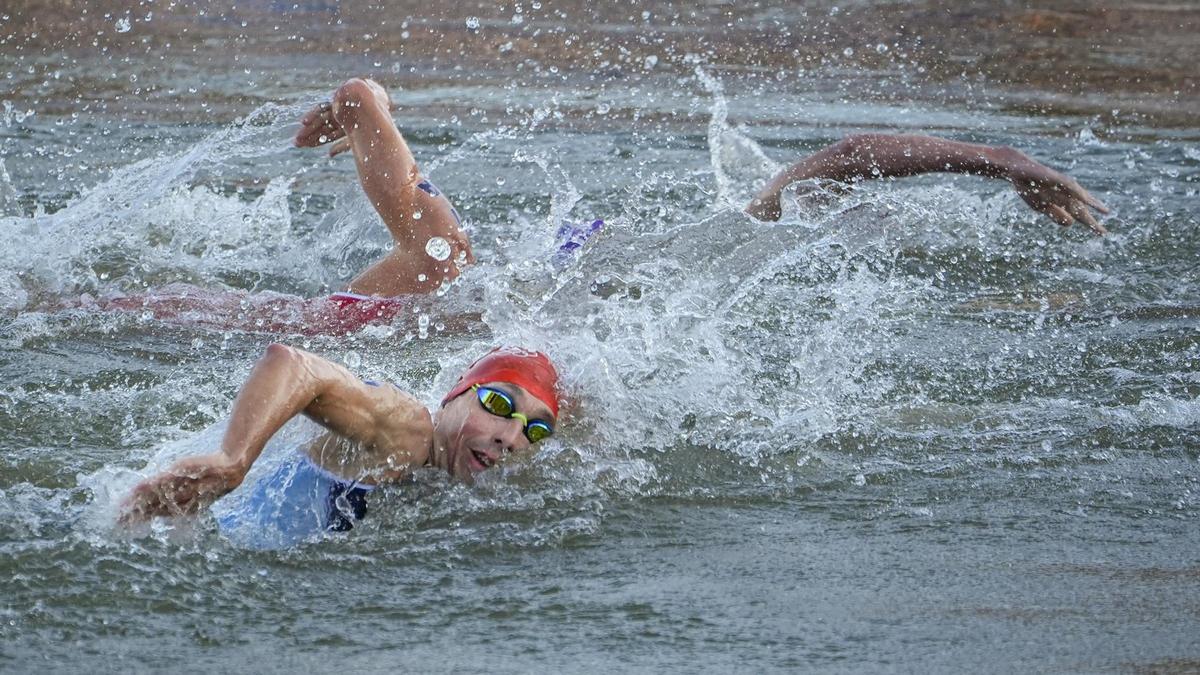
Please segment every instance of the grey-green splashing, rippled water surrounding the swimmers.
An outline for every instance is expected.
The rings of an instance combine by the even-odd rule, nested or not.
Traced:
[[[444,297],[341,338],[78,307],[319,295],[385,250],[353,163],[289,147],[336,82],[263,67],[280,79],[229,123],[5,106],[0,668],[1194,668],[1198,130],[817,73],[410,77],[397,121],[481,261]],[[881,129],[1021,148],[1112,207],[1112,235],[964,177],[739,213]],[[557,271],[557,223],[593,217]],[[239,550],[208,515],[115,532],[148,462],[212,448],[274,340],[431,405],[523,344],[571,401],[534,461],[419,477],[295,550]]]

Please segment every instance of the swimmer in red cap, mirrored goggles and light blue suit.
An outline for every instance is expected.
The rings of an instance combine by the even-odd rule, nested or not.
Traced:
[[[286,422],[304,414],[325,432],[298,449],[286,474],[270,474],[251,489],[247,502],[259,504],[257,510],[218,522],[223,528],[287,532],[270,538],[287,544],[348,530],[365,515],[365,495],[377,485],[426,466],[470,482],[510,455],[528,453],[554,434],[558,401],[558,372],[550,358],[516,347],[478,359],[431,413],[394,386],[366,382],[316,354],[271,345],[234,401],[221,449],[184,458],[143,480],[125,500],[120,519],[130,524],[208,507],[242,483]],[[311,503],[277,503],[296,492]]]

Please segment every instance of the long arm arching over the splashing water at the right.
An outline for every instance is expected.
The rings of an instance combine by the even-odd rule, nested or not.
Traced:
[[[932,136],[864,133],[850,136],[792,165],[773,178],[746,207],[758,220],[779,220],[780,195],[812,178],[853,183],[922,173],[952,172],[1002,178],[1037,211],[1068,226],[1076,220],[1105,234],[1088,208],[1109,209],[1078,183],[1012,148],[976,145]]]

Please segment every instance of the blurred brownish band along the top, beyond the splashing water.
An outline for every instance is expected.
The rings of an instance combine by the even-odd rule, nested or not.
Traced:
[[[644,77],[703,64],[716,72],[840,78],[845,96],[932,91],[925,96],[971,104],[978,98],[971,90],[983,84],[988,101],[1030,112],[1115,117],[1116,108],[1139,117],[1138,124],[1175,127],[1196,126],[1200,115],[1200,6],[1182,2],[1058,0],[1036,10],[946,0],[779,7],[661,0],[8,5],[0,12],[0,64],[10,83],[4,98],[52,106],[72,94],[52,95],[48,78],[61,79],[85,62],[110,65],[114,74],[161,71],[160,82],[138,86],[148,95],[169,89],[172,72],[187,76],[190,85],[194,71],[241,77],[223,89],[247,97],[270,96],[270,83],[288,70],[295,72],[286,77],[325,88],[348,74],[462,80],[499,73],[536,82],[547,73]],[[871,84],[881,73],[894,80],[890,86]],[[112,79],[114,91],[130,88],[127,77]],[[106,85],[80,84],[77,97],[97,86]],[[228,110],[215,103],[210,113],[245,112],[240,102],[228,103]]]

